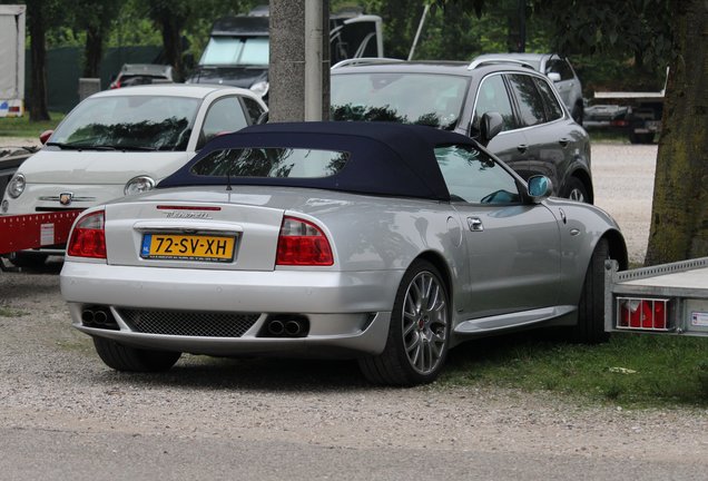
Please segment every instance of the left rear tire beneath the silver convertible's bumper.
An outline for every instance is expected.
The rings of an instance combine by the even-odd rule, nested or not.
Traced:
[[[94,337],[98,356],[108,367],[128,372],[160,372],[175,365],[181,353],[145,351],[126,346],[112,340]]]

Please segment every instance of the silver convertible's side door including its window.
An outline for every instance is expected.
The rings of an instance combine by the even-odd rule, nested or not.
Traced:
[[[471,146],[435,149],[459,213],[468,282],[455,300],[465,318],[555,305],[560,229],[542,204],[523,202],[517,178]]]

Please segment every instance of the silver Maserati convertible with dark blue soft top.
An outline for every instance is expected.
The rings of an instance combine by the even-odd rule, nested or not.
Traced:
[[[626,267],[625,240],[551,190],[430,127],[247,127],[157,189],[82,213],[61,293],[120,371],[183,352],[335,356],[374,383],[426,383],[469,338],[606,336],[603,266]]]

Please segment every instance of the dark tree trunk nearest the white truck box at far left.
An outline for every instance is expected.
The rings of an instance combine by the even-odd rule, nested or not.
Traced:
[[[41,8],[36,4],[31,7],[31,9],[28,8],[27,14],[28,30],[31,38],[30,53],[32,57],[29,111],[30,121],[40,121],[49,120],[46,75],[47,46],[45,43],[45,22]]]

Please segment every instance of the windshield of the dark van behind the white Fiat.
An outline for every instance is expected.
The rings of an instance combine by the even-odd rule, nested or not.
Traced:
[[[212,37],[201,55],[203,66],[267,66],[267,37]]]

